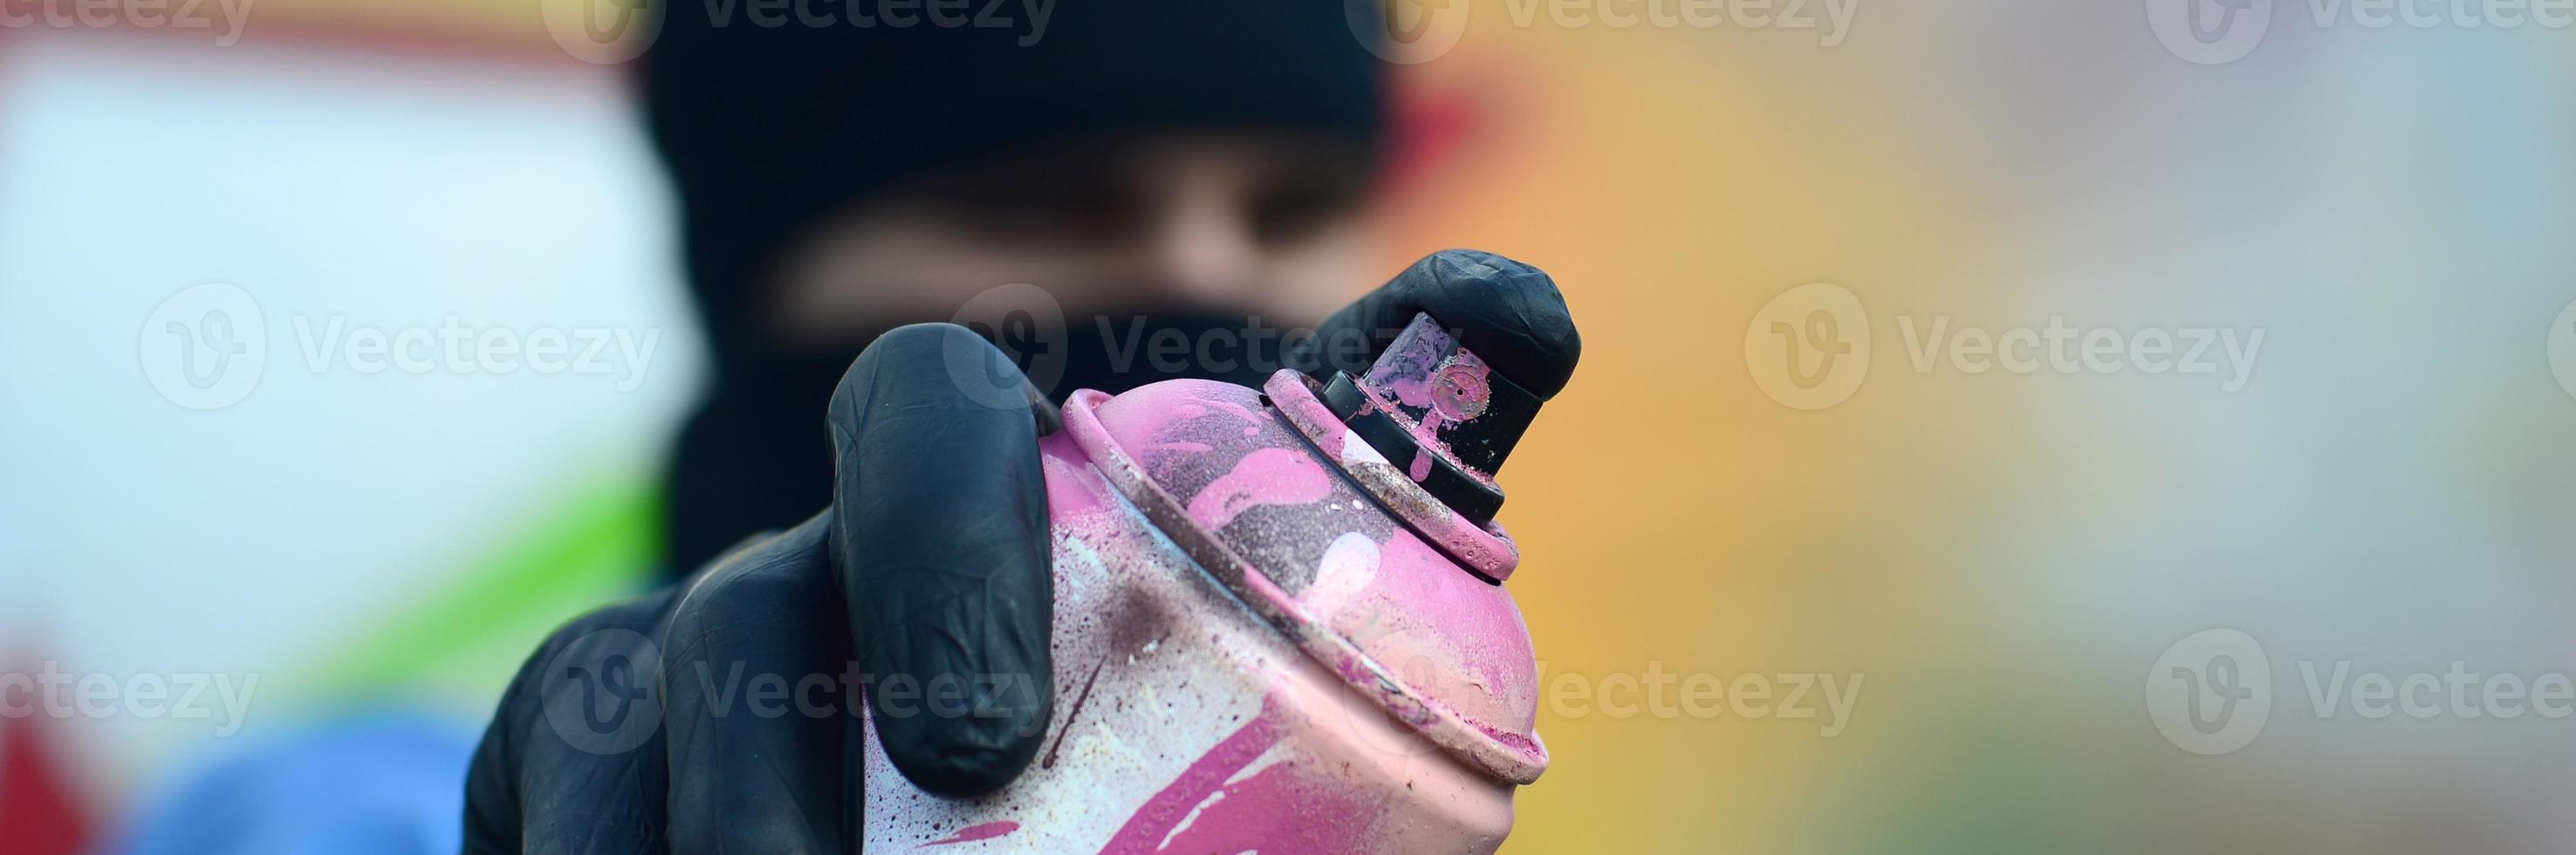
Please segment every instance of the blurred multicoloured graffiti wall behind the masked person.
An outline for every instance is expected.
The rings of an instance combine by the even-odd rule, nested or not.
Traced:
[[[1383,268],[1538,263],[1589,343],[1504,476],[1507,850],[2576,837],[2576,13],[2195,3],[1414,10]],[[0,719],[0,850],[471,742],[649,585],[703,384],[618,67],[505,0],[0,8],[0,672],[75,695]]]

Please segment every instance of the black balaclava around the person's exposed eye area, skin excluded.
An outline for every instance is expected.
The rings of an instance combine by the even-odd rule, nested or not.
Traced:
[[[1072,139],[1157,129],[1383,136],[1383,67],[1355,36],[1381,28],[1347,18],[1376,3],[971,0],[948,10],[963,26],[940,26],[922,5],[889,15],[876,0],[796,0],[760,15],[752,5],[672,3],[644,57],[644,108],[677,188],[688,281],[716,363],[714,397],[672,458],[672,572],[832,500],[822,412],[866,340],[848,353],[791,353],[752,317],[755,286],[822,219],[894,183]],[[1048,10],[1043,31],[1036,8]],[[863,322],[925,319],[943,317]],[[1146,335],[1244,324],[1239,312],[1206,306],[1157,306],[1144,319]],[[1092,350],[1100,335],[1069,332],[1054,394],[1200,373],[1113,376]]]

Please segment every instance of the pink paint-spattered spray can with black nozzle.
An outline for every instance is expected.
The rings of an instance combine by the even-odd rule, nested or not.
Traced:
[[[1538,399],[1417,317],[1368,371],[1077,391],[1041,443],[1056,706],[1010,788],[873,739],[871,850],[1492,852],[1548,765],[1492,471]]]

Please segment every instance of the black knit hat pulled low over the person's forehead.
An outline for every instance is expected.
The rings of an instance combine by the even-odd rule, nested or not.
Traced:
[[[971,0],[943,18],[884,0],[752,5],[672,3],[644,57],[719,371],[760,361],[750,288],[788,242],[889,183],[1108,131],[1376,142],[1383,126],[1383,67],[1355,36],[1378,28],[1337,0]]]

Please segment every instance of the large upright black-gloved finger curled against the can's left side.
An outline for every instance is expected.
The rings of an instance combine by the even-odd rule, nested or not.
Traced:
[[[1028,381],[956,324],[886,332],[832,394],[832,564],[878,742],[914,785],[994,791],[1054,703],[1046,476]]]

